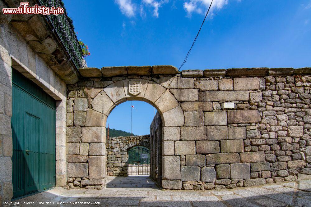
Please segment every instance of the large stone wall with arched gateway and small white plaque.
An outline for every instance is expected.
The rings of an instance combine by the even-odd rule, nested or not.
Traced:
[[[107,158],[93,151],[104,152],[106,118],[127,100],[159,112],[164,188],[248,187],[310,174],[310,68],[92,70],[88,76],[101,77],[68,86],[67,146],[90,145],[88,160],[68,163],[70,178],[105,182]]]

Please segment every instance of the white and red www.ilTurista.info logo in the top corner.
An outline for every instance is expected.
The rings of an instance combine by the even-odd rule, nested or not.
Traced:
[[[3,8],[3,14],[43,14],[43,15],[58,15],[63,14],[64,9],[61,7],[45,7],[36,4],[34,7],[29,7],[29,2],[21,2],[18,8]]]

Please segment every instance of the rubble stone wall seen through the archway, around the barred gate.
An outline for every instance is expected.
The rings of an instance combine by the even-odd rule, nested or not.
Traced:
[[[150,148],[150,136],[109,137],[107,155],[108,176],[128,176],[128,150],[133,146]]]

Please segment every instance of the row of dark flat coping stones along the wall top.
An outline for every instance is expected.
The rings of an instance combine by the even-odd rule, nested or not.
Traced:
[[[113,66],[99,68],[80,68],[80,74],[85,78],[114,77],[124,75],[176,75],[181,74],[184,78],[201,77],[243,77],[267,75],[304,75],[311,74],[311,67],[304,68],[229,68],[229,69],[211,69],[211,70],[182,70],[172,65],[154,65],[154,66]]]

